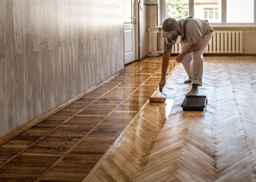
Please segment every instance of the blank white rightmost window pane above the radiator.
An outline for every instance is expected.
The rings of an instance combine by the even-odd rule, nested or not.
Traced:
[[[254,23],[254,0],[227,0],[227,23]]]

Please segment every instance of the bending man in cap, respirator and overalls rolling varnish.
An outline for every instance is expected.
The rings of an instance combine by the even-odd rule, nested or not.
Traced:
[[[176,61],[183,64],[189,76],[189,79],[184,81],[184,83],[192,83],[192,88],[186,95],[196,95],[198,93],[198,86],[202,86],[202,54],[212,38],[213,31],[214,29],[207,20],[180,19],[176,21],[172,18],[164,20],[162,24],[162,38],[164,38],[162,78],[159,82],[159,88],[163,88],[166,83],[166,71],[169,65],[172,46],[175,43],[179,44],[179,39],[181,38],[182,53],[176,57]],[[179,36],[180,38],[178,38]],[[191,63],[192,58],[194,58],[193,63]]]

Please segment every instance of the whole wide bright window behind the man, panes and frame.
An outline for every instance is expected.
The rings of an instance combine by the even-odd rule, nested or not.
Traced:
[[[162,22],[192,16],[211,25],[256,25],[256,0],[161,0],[161,8]]]

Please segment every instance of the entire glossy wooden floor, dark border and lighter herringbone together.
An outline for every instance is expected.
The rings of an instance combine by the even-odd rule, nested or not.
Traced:
[[[127,68],[0,146],[0,182],[256,182],[256,57],[204,58],[203,112],[182,111],[182,64],[166,103],[161,57]]]

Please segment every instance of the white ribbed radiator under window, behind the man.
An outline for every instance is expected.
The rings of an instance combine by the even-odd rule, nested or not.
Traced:
[[[182,44],[173,45],[172,53],[181,53]],[[204,53],[243,53],[243,31],[214,31]]]

